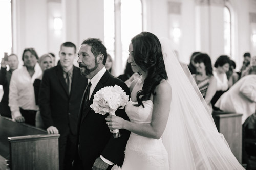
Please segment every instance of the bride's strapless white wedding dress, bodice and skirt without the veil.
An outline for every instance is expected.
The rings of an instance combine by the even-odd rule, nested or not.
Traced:
[[[150,123],[153,111],[151,100],[143,101],[143,106],[134,106],[135,102],[130,102],[125,107],[125,112],[131,122],[141,124]],[[168,154],[164,148],[162,139],[152,139],[131,133],[126,145],[125,158],[122,170],[136,169],[169,169]]]

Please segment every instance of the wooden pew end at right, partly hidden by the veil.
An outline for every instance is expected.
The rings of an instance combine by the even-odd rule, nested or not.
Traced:
[[[242,115],[214,111],[212,117],[220,133],[222,133],[239,163],[242,163]]]

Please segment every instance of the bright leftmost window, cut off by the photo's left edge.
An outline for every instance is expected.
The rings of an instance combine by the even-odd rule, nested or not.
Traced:
[[[12,52],[12,9],[11,0],[0,0],[0,58],[4,52]]]

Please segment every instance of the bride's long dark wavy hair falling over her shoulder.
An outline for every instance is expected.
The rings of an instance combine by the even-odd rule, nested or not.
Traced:
[[[154,34],[141,32],[132,38],[132,44],[135,63],[143,71],[147,71],[142,90],[137,92],[138,104],[135,105],[144,107],[142,101],[150,99],[151,94],[156,95],[156,86],[162,79],[167,79],[167,74],[161,44]]]

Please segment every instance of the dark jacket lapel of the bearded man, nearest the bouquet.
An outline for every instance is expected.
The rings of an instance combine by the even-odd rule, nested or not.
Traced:
[[[105,74],[102,76],[102,78],[100,79],[100,81],[98,82],[98,84],[96,85],[95,89],[93,90],[93,93],[91,95],[91,98],[87,104],[87,106],[83,109],[84,111],[82,111],[82,118],[81,118],[81,122],[82,120],[86,117],[86,115],[88,114],[88,112],[91,110],[90,105],[93,104],[93,96],[94,94],[99,91],[101,88],[104,87],[104,83],[108,80],[108,78],[110,77],[110,73],[109,71],[106,71]],[[84,102],[84,100],[82,100],[82,102]]]

